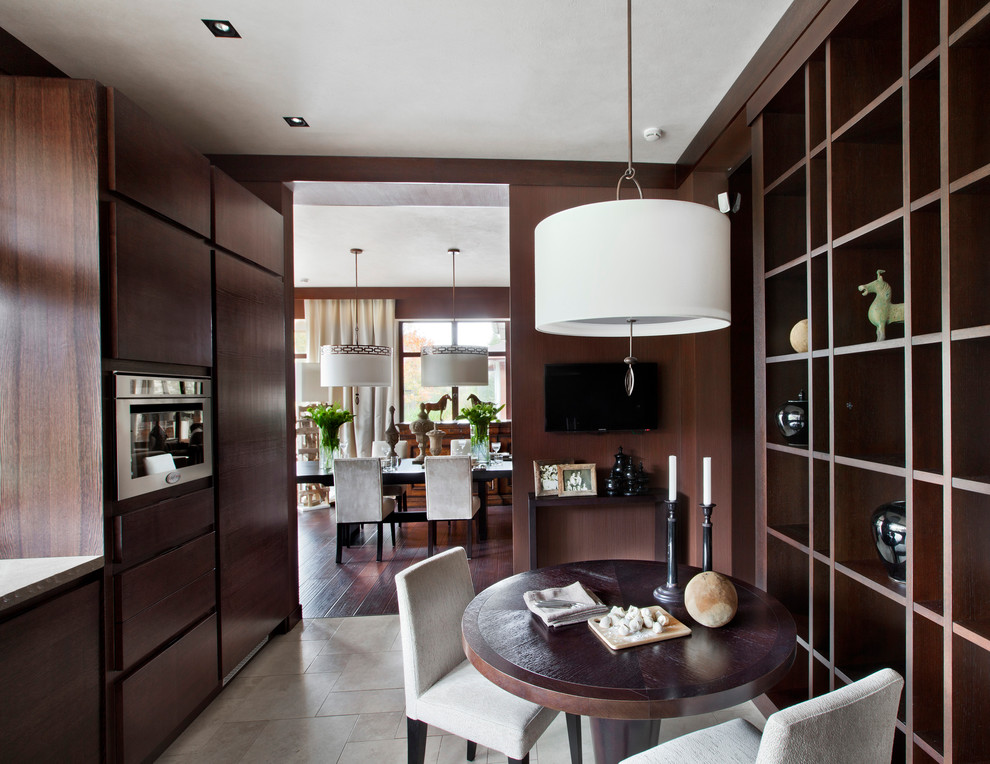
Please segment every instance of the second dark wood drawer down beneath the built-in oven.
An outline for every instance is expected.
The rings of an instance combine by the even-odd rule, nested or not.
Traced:
[[[213,533],[114,577],[116,620],[126,621],[216,567]]]

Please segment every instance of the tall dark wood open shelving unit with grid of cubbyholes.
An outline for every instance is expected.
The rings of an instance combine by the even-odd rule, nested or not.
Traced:
[[[759,578],[799,635],[770,698],[789,705],[892,666],[907,681],[895,759],[985,761],[990,4],[833,1],[822,18],[796,46],[803,64],[781,73],[785,58],[749,114]],[[905,307],[882,341],[874,295],[858,290],[878,270]],[[790,332],[805,318],[797,352]],[[801,390],[808,446],[775,421]],[[906,583],[888,577],[870,531],[894,500],[907,506]]]

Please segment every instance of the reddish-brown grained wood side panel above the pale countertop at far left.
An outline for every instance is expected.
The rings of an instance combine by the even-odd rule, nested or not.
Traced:
[[[103,553],[98,92],[0,77],[0,558]]]

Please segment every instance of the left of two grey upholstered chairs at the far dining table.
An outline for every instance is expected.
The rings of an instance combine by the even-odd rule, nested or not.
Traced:
[[[341,563],[344,540],[352,524],[378,526],[378,556],[382,561],[382,523],[395,511],[395,499],[382,495],[382,462],[374,457],[337,458],[333,462],[337,493],[337,564]],[[392,544],[395,523],[392,522]]]

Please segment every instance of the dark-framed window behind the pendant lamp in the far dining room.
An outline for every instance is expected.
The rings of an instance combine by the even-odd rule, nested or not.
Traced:
[[[507,321],[401,321],[402,397],[401,421],[409,422],[419,414],[420,403],[438,400],[444,393],[452,401],[443,412],[443,419],[451,421],[462,406],[469,405],[467,397],[472,393],[483,401],[494,401],[501,406],[508,401],[509,385],[506,379],[505,338]],[[426,345],[485,345],[488,347],[488,384],[460,387],[423,387],[420,383],[420,352]],[[504,418],[505,412],[500,414]],[[440,420],[440,412],[431,411],[430,419]]]

